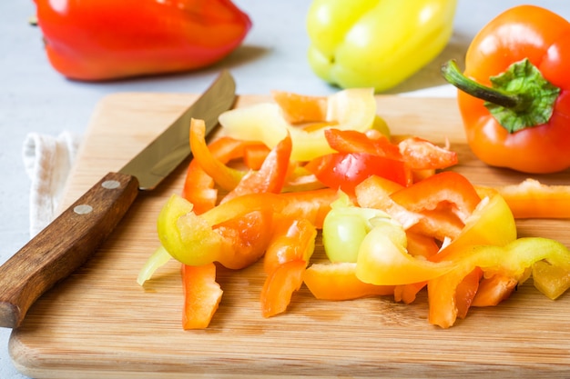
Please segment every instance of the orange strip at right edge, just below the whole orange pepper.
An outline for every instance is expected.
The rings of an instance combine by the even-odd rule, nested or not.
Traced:
[[[570,218],[570,185],[543,185],[526,179],[495,189],[509,204],[514,218]]]

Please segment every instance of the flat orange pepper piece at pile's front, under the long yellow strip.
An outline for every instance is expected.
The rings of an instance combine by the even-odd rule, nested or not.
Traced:
[[[303,280],[317,299],[351,300],[365,296],[393,294],[393,285],[374,285],[356,277],[356,264],[337,262],[311,264]]]

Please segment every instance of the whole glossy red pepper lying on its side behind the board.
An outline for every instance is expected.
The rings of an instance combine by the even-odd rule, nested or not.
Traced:
[[[212,65],[241,44],[251,21],[229,0],[35,0],[51,65],[103,81]]]

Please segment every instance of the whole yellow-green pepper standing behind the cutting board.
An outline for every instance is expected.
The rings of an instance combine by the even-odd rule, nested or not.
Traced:
[[[309,62],[325,81],[382,92],[439,55],[453,33],[456,0],[314,0]]]

